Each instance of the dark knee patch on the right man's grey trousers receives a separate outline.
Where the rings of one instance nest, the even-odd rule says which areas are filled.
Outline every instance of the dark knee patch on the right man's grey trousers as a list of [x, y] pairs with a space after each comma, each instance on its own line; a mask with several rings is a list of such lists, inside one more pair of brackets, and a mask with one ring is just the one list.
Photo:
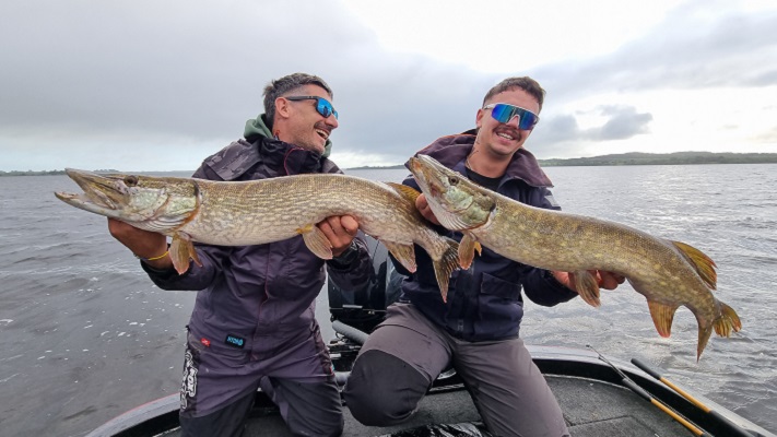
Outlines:
[[343, 398], [362, 424], [390, 426], [413, 414], [429, 386], [431, 381], [410, 364], [372, 350], [354, 363]]

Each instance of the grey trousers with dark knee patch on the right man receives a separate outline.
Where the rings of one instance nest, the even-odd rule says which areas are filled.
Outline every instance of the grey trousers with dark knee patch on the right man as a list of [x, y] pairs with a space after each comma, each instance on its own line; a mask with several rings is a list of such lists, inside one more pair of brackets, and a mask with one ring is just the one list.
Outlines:
[[467, 342], [411, 304], [395, 304], [362, 347], [343, 395], [365, 425], [410, 417], [450, 364], [488, 430], [501, 437], [568, 436], [561, 408], [520, 339]]

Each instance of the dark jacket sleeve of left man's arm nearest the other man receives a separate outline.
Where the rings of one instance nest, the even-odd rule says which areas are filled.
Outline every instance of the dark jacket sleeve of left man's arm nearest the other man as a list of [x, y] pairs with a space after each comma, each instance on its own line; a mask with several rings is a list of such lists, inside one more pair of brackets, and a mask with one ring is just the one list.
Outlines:
[[351, 247], [337, 258], [327, 261], [329, 280], [345, 291], [355, 292], [367, 286], [373, 273], [373, 260], [361, 231]]

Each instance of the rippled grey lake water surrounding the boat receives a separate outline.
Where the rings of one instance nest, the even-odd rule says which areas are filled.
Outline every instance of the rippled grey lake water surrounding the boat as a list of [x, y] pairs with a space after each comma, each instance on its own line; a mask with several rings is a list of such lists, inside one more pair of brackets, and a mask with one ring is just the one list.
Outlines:
[[[680, 308], [670, 339], [645, 298], [604, 292], [527, 304], [528, 343], [638, 357], [670, 380], [777, 432], [777, 165], [549, 167], [565, 211], [691, 244], [718, 264], [717, 297], [744, 324], [713, 336], [696, 362], [696, 320]], [[399, 181], [405, 170], [350, 174]], [[181, 174], [180, 176], [188, 176]], [[104, 217], [54, 191], [66, 176], [0, 177], [0, 435], [83, 436], [144, 402], [177, 392], [195, 293], [156, 288], [107, 232]], [[326, 339], [326, 293], [318, 314]]]

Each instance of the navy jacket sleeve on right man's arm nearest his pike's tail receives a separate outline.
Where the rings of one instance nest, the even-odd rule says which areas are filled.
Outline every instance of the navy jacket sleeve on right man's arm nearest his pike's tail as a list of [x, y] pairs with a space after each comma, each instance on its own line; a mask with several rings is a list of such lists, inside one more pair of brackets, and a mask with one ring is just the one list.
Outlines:
[[[561, 206], [556, 203], [551, 190], [544, 187], [539, 188], [533, 193], [529, 204], [546, 210], [561, 211]], [[521, 275], [523, 292], [534, 304], [552, 307], [578, 296], [577, 293], [556, 281], [549, 270], [529, 265], [525, 265], [525, 269], [526, 271]]]

